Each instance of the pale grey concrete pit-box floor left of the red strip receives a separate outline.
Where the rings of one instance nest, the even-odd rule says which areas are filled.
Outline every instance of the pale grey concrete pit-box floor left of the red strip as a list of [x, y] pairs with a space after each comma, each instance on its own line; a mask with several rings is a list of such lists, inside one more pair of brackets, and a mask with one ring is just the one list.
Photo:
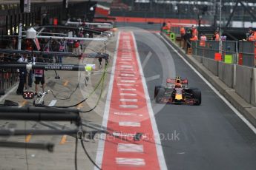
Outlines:
[[[87, 42], [85, 43], [88, 47], [85, 52], [105, 52], [104, 43], [102, 42]], [[113, 57], [116, 47], [116, 37], [112, 37], [107, 43], [108, 53]], [[48, 105], [51, 101], [56, 100], [55, 106], [70, 106], [74, 103], [82, 101], [96, 86], [97, 82], [102, 76], [105, 61], [102, 62], [102, 69], [99, 68], [99, 61], [94, 59], [86, 58], [84, 63], [96, 64], [96, 70], [86, 76], [89, 77], [88, 82], [85, 85], [85, 72], [73, 72], [73, 71], [57, 71], [60, 79], [55, 79], [54, 71], [46, 71], [45, 79], [47, 83], [46, 89], [51, 89], [57, 98], [54, 98], [50, 93], [45, 97], [45, 104]], [[64, 58], [63, 64], [82, 64], [77, 58]], [[111, 70], [112, 60], [110, 60]], [[96, 126], [102, 123], [102, 114], [105, 108], [105, 96], [108, 89], [109, 74], [106, 74], [104, 90], [102, 92], [102, 98], [99, 102], [99, 106], [96, 107], [92, 112], [83, 113], [82, 120], [84, 123]], [[79, 78], [81, 77], [81, 81]], [[76, 89], [77, 84], [80, 82], [79, 88], [73, 93], [70, 99], [60, 100], [59, 98], [68, 98], [70, 93]], [[30, 90], [34, 90], [33, 87]], [[88, 101], [77, 106], [79, 109], [86, 111], [93, 108], [97, 99], [99, 98], [100, 88], [96, 90], [94, 95]], [[6, 98], [7, 100], [15, 101], [20, 106], [32, 106], [33, 100], [24, 100], [21, 95], [16, 95], [16, 89], [10, 92]], [[3, 103], [4, 100], [1, 101]], [[96, 125], [94, 125], [96, 124]], [[33, 122], [33, 121], [14, 121], [14, 120], [0, 120], [0, 129], [73, 129], [75, 126], [70, 122]], [[88, 129], [84, 127], [84, 129]], [[100, 138], [100, 134], [96, 135], [94, 140], [88, 140], [85, 142], [85, 148], [88, 149], [89, 154], [93, 158], [96, 157], [97, 143]], [[16, 141], [24, 142], [27, 140], [28, 143], [54, 143], [54, 152], [50, 153], [42, 150], [34, 149], [11, 149], [0, 147], [0, 169], [75, 169], [74, 167], [74, 151], [75, 151], [75, 138], [67, 135], [27, 135], [27, 136], [10, 136], [0, 137], [2, 141]], [[27, 158], [26, 158], [27, 157]], [[93, 169], [93, 164], [86, 157], [85, 152], [82, 150], [81, 143], [78, 145], [78, 169]]]

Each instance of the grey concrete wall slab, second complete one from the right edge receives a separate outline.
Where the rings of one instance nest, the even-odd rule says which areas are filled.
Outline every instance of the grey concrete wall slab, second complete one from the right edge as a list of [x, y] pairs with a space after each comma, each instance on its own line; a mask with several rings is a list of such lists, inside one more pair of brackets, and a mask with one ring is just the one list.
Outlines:
[[230, 88], [234, 87], [234, 65], [219, 62], [218, 75], [221, 81], [223, 81]]

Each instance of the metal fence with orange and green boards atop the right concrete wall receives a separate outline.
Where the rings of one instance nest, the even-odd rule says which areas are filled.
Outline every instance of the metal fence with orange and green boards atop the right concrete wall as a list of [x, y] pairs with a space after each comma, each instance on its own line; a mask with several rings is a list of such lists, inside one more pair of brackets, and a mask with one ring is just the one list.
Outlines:
[[[175, 31], [178, 31], [178, 27], [171, 27], [171, 32], [175, 33]], [[179, 46], [187, 49], [186, 42], [183, 42], [184, 44], [181, 42]], [[191, 49], [192, 55], [223, 61], [226, 64], [239, 64], [247, 67], [256, 66], [256, 42], [191, 41]]]

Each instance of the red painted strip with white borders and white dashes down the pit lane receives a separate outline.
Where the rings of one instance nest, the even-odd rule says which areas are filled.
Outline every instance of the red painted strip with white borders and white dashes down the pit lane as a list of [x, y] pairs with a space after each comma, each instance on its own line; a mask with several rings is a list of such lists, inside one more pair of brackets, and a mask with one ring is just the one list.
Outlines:
[[[96, 163], [103, 170], [167, 169], [137, 44], [131, 32], [118, 35], [102, 126], [114, 129], [114, 136], [125, 138], [105, 135], [104, 140], [99, 140]], [[144, 134], [146, 140], [134, 141], [137, 133]]]

